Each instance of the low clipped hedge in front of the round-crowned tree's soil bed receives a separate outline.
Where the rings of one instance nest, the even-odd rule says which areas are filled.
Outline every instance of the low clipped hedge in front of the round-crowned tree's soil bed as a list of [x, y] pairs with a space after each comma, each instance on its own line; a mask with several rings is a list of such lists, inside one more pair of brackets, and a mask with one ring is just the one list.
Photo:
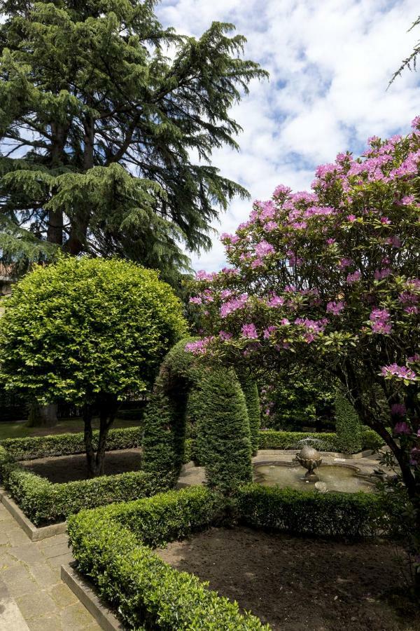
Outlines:
[[169, 487], [164, 478], [157, 480], [144, 471], [52, 484], [20, 467], [11, 468], [4, 483], [10, 496], [36, 526], [64, 521], [83, 508], [148, 497]]

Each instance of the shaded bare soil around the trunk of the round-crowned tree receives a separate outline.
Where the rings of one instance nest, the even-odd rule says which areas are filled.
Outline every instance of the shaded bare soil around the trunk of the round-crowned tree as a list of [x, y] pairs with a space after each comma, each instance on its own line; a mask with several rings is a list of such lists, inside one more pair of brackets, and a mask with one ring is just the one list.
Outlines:
[[[39, 458], [27, 460], [21, 464], [34, 473], [48, 478], [50, 482], [73, 482], [73, 480], [85, 480], [87, 477], [85, 454]], [[138, 471], [140, 465], [141, 449], [120, 449], [115, 452], [106, 452], [106, 475]]]

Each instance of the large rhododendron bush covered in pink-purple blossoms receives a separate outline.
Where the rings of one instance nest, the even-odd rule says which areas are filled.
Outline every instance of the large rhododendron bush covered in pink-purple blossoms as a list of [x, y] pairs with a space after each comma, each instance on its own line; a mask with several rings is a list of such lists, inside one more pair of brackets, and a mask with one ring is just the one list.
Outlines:
[[391, 447], [412, 498], [420, 484], [419, 172], [420, 117], [407, 137], [372, 137], [360, 158], [347, 152], [318, 167], [311, 192], [281, 185], [256, 201], [248, 221], [222, 236], [231, 266], [197, 273], [191, 301], [207, 337], [189, 347], [270, 368], [330, 370]]

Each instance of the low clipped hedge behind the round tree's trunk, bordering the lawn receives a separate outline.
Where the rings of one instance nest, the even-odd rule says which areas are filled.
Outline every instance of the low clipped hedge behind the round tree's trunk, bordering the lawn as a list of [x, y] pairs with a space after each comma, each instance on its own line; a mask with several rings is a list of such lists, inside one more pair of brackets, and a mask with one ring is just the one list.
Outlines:
[[[139, 427], [111, 429], [106, 440], [106, 450], [133, 449], [141, 446], [143, 430]], [[93, 432], [93, 446], [97, 449], [99, 431]], [[33, 460], [50, 456], [69, 456], [85, 452], [83, 432], [33, 436], [26, 438], [6, 438], [1, 446], [15, 460]]]

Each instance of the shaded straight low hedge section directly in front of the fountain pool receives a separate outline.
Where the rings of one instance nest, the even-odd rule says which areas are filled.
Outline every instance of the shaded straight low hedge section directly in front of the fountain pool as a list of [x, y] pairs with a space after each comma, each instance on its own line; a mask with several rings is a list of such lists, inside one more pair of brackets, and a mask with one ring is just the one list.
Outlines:
[[391, 528], [391, 501], [373, 493], [323, 494], [248, 484], [236, 498], [241, 522], [253, 528], [346, 539], [383, 536]]

